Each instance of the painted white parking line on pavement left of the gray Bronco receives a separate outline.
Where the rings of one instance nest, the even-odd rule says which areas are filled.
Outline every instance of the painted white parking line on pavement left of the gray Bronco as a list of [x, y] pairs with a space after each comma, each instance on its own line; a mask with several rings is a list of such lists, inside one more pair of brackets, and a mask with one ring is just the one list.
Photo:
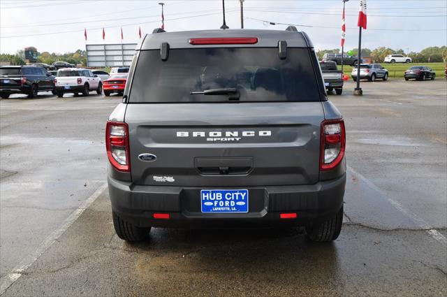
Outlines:
[[64, 232], [82, 215], [82, 212], [84, 212], [91, 203], [94, 203], [96, 198], [99, 197], [103, 193], [103, 191], [107, 189], [107, 182], [101, 185], [96, 191], [91, 194], [89, 198], [87, 198], [84, 203], [82, 203], [79, 208], [76, 208], [75, 211], [71, 213], [70, 216], [67, 217], [67, 219], [64, 221], [64, 223], [59, 226], [58, 229], [54, 230], [50, 236], [45, 238], [43, 242], [38, 246], [36, 251], [34, 253], [29, 254], [29, 256], [26, 256], [18, 266], [15, 266], [13, 270], [8, 273], [8, 275], [4, 276], [0, 280], [0, 295], [5, 293], [6, 289], [8, 289], [11, 284], [13, 284], [16, 280], [19, 279], [19, 277], [22, 276], [22, 272], [29, 268], [34, 262], [36, 262], [37, 259], [39, 259], [40, 256], [49, 248], [51, 245], [59, 238]]

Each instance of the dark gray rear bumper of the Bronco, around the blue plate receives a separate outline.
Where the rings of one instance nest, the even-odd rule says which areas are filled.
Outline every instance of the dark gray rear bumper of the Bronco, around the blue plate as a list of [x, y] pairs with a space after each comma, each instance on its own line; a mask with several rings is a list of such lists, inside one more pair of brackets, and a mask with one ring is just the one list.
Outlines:
[[[200, 212], [200, 190], [221, 187], [138, 186], [108, 178], [112, 210], [122, 219], [135, 226], [174, 228], [306, 226], [342, 208], [345, 184], [344, 174], [316, 184], [244, 187], [249, 189], [248, 213], [205, 214]], [[170, 219], [154, 219], [154, 212], [169, 213]], [[295, 212], [297, 218], [280, 219], [284, 212]]]

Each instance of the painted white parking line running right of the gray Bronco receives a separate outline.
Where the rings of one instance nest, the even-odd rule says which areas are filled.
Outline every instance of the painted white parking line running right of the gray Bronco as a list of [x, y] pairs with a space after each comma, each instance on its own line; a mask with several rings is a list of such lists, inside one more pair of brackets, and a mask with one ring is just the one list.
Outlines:
[[411, 219], [411, 221], [413, 221], [413, 223], [416, 224], [416, 226], [420, 227], [421, 229], [424, 229], [427, 233], [430, 234], [430, 236], [432, 236], [432, 238], [434, 238], [435, 240], [441, 242], [441, 244], [447, 246], [447, 238], [444, 235], [442, 235], [441, 233], [439, 233], [439, 231], [437, 231], [435, 229], [432, 229], [430, 224], [425, 222], [425, 220], [423, 218], [418, 217], [416, 214], [414, 214], [410, 210], [407, 210], [406, 208], [404, 208], [402, 206], [402, 204], [400, 204], [399, 202], [397, 202], [394, 199], [390, 198], [388, 196], [388, 194], [386, 194], [385, 191], [383, 191], [382, 189], [377, 187], [373, 182], [369, 181], [363, 175], [361, 175], [360, 173], [355, 171], [351, 166], [346, 166], [346, 167], [348, 168], [348, 171], [351, 171], [351, 173], [356, 175], [356, 177], [359, 180], [362, 180], [362, 182], [365, 182], [365, 184], [367, 184], [371, 189], [374, 189], [374, 191], [378, 191], [381, 194], [380, 196], [382, 198], [384, 198], [386, 201], [391, 203], [397, 210], [402, 212], [402, 214], [405, 217], [408, 217], [409, 219]]

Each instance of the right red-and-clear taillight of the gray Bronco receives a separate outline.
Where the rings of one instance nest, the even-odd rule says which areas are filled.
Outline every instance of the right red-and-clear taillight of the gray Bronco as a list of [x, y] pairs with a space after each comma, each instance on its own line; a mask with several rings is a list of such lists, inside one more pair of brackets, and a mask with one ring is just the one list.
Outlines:
[[320, 170], [335, 168], [344, 157], [346, 136], [343, 119], [321, 122]]

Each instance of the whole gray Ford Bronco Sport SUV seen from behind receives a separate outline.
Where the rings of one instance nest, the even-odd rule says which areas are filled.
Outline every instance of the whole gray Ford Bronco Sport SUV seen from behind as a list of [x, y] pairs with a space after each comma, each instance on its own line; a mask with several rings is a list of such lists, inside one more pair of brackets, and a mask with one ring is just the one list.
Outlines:
[[314, 45], [286, 31], [154, 30], [137, 46], [106, 126], [115, 231], [342, 228], [342, 115]]

